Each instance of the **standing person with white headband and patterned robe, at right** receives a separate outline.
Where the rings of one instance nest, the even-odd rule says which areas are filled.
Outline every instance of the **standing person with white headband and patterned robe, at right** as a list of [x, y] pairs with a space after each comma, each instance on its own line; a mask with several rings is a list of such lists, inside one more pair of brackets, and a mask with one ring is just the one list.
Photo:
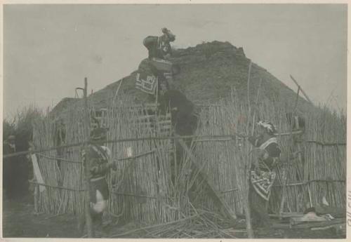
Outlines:
[[277, 165], [280, 149], [277, 144], [274, 125], [268, 121], [259, 121], [258, 136], [249, 137], [253, 149], [253, 163], [250, 171], [249, 203], [253, 217], [253, 227], [270, 227], [267, 202], [276, 177], [274, 167]]

